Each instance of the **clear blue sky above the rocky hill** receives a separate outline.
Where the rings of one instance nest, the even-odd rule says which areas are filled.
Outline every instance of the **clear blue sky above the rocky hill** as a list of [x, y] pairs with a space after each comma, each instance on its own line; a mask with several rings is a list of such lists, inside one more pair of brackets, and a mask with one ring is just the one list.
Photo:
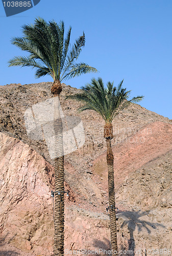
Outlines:
[[99, 70], [99, 74], [82, 75], [65, 81], [80, 88], [92, 77], [132, 90], [131, 96], [144, 95], [144, 108], [172, 119], [172, 1], [171, 0], [41, 0], [32, 9], [6, 17], [0, 5], [1, 78], [0, 84], [52, 81], [51, 77], [34, 78], [30, 68], [10, 67], [8, 60], [26, 53], [10, 44], [21, 36], [23, 24], [35, 17], [63, 20], [66, 31], [72, 27], [71, 42], [82, 32], [86, 44], [79, 61]]

